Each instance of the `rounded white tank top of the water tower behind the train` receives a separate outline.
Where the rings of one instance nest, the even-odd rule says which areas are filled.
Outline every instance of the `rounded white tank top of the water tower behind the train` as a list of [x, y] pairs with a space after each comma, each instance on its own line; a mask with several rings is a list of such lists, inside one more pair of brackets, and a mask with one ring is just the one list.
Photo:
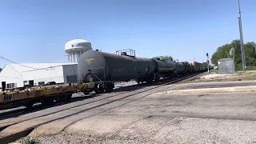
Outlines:
[[87, 51], [92, 50], [91, 43], [84, 39], [73, 39], [70, 42], [66, 42], [65, 51]]

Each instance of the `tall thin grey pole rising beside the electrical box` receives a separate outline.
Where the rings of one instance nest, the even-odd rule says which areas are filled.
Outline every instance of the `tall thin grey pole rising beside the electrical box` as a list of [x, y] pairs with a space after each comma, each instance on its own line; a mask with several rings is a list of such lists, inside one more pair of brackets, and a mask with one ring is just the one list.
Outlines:
[[242, 38], [242, 18], [241, 18], [241, 10], [240, 10], [240, 0], [238, 0], [238, 9], [239, 9], [238, 24], [239, 24], [239, 32], [240, 32], [242, 70], [245, 73], [246, 72], [246, 58], [245, 58], [245, 49], [244, 49], [243, 38]]

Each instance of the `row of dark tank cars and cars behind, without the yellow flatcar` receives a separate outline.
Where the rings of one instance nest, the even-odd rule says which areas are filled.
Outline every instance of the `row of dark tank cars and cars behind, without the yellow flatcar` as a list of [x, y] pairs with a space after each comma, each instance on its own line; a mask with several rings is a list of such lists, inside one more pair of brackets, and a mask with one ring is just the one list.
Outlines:
[[[130, 54], [127, 54], [130, 53]], [[120, 50], [116, 54], [98, 50], [86, 51], [78, 60], [78, 79], [95, 82], [96, 93], [111, 92], [114, 82], [128, 82], [132, 79], [138, 84], [158, 81], [160, 78], [174, 78], [208, 70], [207, 65], [198, 62], [162, 61], [153, 58], [137, 58], [134, 50]], [[93, 90], [87, 90], [89, 94]]]

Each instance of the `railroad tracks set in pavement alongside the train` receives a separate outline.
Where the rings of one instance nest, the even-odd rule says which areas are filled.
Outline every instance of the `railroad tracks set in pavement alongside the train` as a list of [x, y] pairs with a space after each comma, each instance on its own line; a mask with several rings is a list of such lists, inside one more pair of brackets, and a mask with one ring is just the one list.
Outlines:
[[[202, 73], [198, 73], [198, 74], [202, 74]], [[71, 106], [71, 107], [68, 107], [68, 108], [65, 108], [65, 109], [62, 109], [62, 110], [56, 110], [56, 111], [51, 112], [51, 113], [48, 113], [48, 114], [42, 114], [42, 115], [39, 115], [39, 116], [34, 117], [34, 118], [26, 118], [26, 119], [23, 119], [23, 120], [21, 120], [21, 121], [13, 122], [13, 123], [11, 123], [10, 125], [6, 125], [6, 126], [0, 127], [0, 130], [5, 130], [6, 128], [8, 129], [8, 127], [14, 126], [14, 125], [16, 125], [16, 124], [18, 124], [18, 123], [20, 123], [20, 122], [26, 122], [26, 121], [29, 121], [29, 120], [32, 120], [32, 119], [35, 119], [35, 118], [42, 118], [42, 117], [48, 116], [48, 115], [50, 115], [50, 114], [57, 114], [57, 113], [59, 113], [59, 112], [65, 111], [65, 110], [70, 110], [70, 109], [78, 108], [79, 106], [85, 106], [85, 105], [88, 105], [88, 104], [91, 104], [91, 103], [94, 103], [94, 102], [99, 102], [99, 101], [102, 101], [102, 100], [105, 100], [105, 99], [108, 99], [108, 98], [117, 97], [117, 98], [115, 98], [114, 100], [111, 100], [111, 101], [109, 101], [109, 102], [103, 102], [103, 103], [101, 103], [101, 104], [98, 104], [98, 105], [95, 105], [95, 106], [91, 106], [91, 107], [86, 108], [86, 109], [83, 109], [83, 110], [78, 110], [77, 112], [74, 112], [74, 113], [72, 113], [72, 114], [66, 114], [66, 115], [61, 116], [61, 117], [58, 117], [58, 118], [52, 118], [52, 119], [50, 119], [50, 120], [47, 120], [46, 122], [38, 122], [38, 123], [34, 124], [34, 126], [29, 126], [29, 127], [26, 128], [25, 130], [20, 130], [20, 131], [18, 131], [18, 132], [14, 132], [14, 134], [10, 134], [10, 135], [8, 135], [8, 136], [5, 136], [5, 137], [0, 138], [0, 143], [1, 143], [1, 144], [4, 144], [4, 143], [9, 143], [9, 142], [14, 142], [14, 141], [18, 140], [19, 138], [26, 137], [28, 134], [30, 134], [31, 131], [33, 131], [34, 129], [38, 128], [39, 126], [46, 125], [46, 124], [48, 124], [48, 123], [50, 123], [50, 122], [56, 122], [56, 121], [62, 120], [62, 119], [64, 119], [64, 118], [69, 118], [69, 117], [72, 117], [72, 116], [74, 116], [74, 115], [77, 115], [77, 114], [81, 114], [81, 113], [83, 113], [83, 112], [86, 112], [86, 111], [88, 111], [88, 110], [93, 110], [93, 109], [95, 109], [95, 108], [108, 105], [108, 104], [110, 104], [110, 103], [112, 103], [112, 102], [117, 102], [118, 100], [122, 100], [122, 99], [124, 99], [124, 98], [132, 97], [132, 96], [134, 96], [134, 95], [136, 95], [136, 94], [142, 94], [142, 93], [145, 93], [145, 92], [150, 92], [150, 90], [156, 90], [156, 89], [159, 88], [160, 86], [170, 85], [170, 84], [172, 84], [172, 83], [182, 81], [182, 80], [184, 80], [184, 79], [186, 79], [186, 78], [192, 78], [192, 77], [194, 77], [194, 76], [196, 76], [196, 75], [198, 75], [198, 74], [193, 74], [193, 75], [189, 75], [189, 76], [184, 76], [184, 77], [181, 77], [181, 78], [175, 78], [175, 79], [170, 80], [170, 81], [164, 81], [164, 82], [162, 82], [162, 84], [153, 85], [153, 86], [151, 85], [151, 86], [145, 87], [145, 88], [143, 88], [143, 89], [138, 89], [138, 90], [135, 90], [135, 91], [132, 91], [132, 92], [129, 92], [129, 93], [127, 93], [127, 91], [126, 91], [126, 92], [122, 92], [122, 93], [119, 93], [119, 94], [114, 94], [114, 93], [113, 93], [113, 95], [110, 95], [110, 96], [108, 96], [108, 95], [103, 95], [103, 96], [106, 96], [106, 97], [105, 97], [105, 98], [99, 98], [99, 99], [94, 100], [94, 101], [91, 101], [91, 102], [82, 103], [82, 104], [79, 104], [79, 105], [77, 105], [77, 106]], [[138, 86], [138, 85], [135, 85], [135, 86]], [[142, 86], [145, 86], [145, 85], [142, 85]], [[139, 87], [141, 88], [142, 86], [139, 86]], [[129, 89], [129, 88], [133, 88], [133, 86], [128, 86], [128, 89]], [[123, 89], [127, 89], [127, 87], [123, 87]], [[162, 91], [162, 90], [164, 90], [164, 89], [165, 89], [165, 88], [162, 88], [162, 89], [160, 89], [160, 90], [154, 91], [154, 93], [156, 93], [156, 92], [158, 92], [158, 91]], [[150, 95], [150, 94], [145, 94], [145, 95], [143, 95], [143, 96], [140, 97], [140, 98], [144, 98], [144, 97], [146, 97], [146, 96], [148, 96], [148, 95]], [[137, 99], [138, 99], [138, 98], [136, 98], [136, 99], [134, 99], [134, 100], [137, 100]], [[132, 100], [132, 101], [134, 101], [134, 100]], [[130, 102], [132, 102], [132, 101], [130, 101]], [[128, 103], [128, 102], [126, 102], [126, 103]], [[125, 103], [125, 104], [126, 104], [126, 103]], [[116, 108], [116, 107], [114, 107], [114, 108]], [[110, 108], [110, 109], [108, 109], [108, 110], [111, 110], [111, 109], [114, 109], [114, 108]], [[106, 110], [104, 110], [104, 111], [102, 111], [102, 112], [100, 112], [100, 113], [98, 113], [98, 114], [101, 114], [101, 113], [103, 113], [103, 112], [105, 112], [105, 111], [106, 111]], [[94, 116], [94, 115], [97, 115], [97, 114], [90, 115], [90, 117], [92, 117], [92, 116]], [[90, 118], [90, 117], [85, 117], [85, 118]], [[68, 127], [68, 126], [73, 125], [75, 122], [81, 121], [82, 119], [84, 119], [84, 118], [79, 118], [79, 119], [77, 119], [76, 121], [71, 122], [69, 125], [65, 126], [63, 130], [65, 130], [66, 127]]]

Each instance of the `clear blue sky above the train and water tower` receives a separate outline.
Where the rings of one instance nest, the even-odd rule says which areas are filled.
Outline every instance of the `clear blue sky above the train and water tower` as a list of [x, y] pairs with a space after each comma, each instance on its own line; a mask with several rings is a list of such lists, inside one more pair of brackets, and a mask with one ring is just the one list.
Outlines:
[[[244, 41], [255, 41], [256, 1], [241, 6]], [[205, 62], [239, 38], [237, 0], [2, 0], [0, 19], [0, 55], [14, 62], [67, 62], [64, 45], [74, 38], [110, 53]]]

